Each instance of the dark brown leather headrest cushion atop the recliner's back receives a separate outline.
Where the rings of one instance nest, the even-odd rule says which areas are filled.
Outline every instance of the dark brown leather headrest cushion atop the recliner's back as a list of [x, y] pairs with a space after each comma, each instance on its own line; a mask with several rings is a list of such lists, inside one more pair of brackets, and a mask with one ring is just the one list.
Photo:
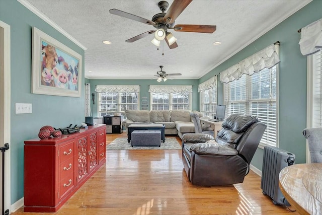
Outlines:
[[246, 131], [255, 122], [259, 122], [255, 116], [236, 113], [228, 116], [222, 123], [222, 127], [239, 133]]

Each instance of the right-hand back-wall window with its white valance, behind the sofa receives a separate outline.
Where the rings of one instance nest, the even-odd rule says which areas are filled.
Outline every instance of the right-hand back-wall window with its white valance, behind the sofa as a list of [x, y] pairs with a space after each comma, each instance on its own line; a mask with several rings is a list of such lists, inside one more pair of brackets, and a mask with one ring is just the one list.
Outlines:
[[191, 111], [192, 86], [150, 86], [151, 110]]

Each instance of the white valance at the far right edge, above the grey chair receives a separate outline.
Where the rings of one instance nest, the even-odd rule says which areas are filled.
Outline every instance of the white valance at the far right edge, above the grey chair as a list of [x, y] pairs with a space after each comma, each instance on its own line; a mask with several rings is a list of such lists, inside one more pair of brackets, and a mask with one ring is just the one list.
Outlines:
[[301, 28], [301, 39], [298, 44], [305, 56], [322, 50], [322, 19]]

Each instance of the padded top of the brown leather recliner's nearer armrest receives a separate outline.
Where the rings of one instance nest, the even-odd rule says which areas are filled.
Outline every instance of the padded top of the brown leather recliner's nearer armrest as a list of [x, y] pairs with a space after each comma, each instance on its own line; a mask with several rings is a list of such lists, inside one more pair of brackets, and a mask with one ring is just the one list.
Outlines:
[[237, 155], [238, 152], [231, 148], [214, 143], [202, 142], [200, 144], [193, 144], [190, 146], [190, 152], [195, 152], [198, 155]]

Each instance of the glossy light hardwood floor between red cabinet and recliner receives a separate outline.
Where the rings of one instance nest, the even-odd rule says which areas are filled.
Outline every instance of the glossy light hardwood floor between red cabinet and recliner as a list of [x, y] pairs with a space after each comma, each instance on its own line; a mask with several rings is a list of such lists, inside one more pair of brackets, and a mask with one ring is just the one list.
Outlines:
[[[126, 133], [107, 134], [107, 144], [116, 137]], [[106, 165], [56, 213], [11, 214], [298, 214], [263, 195], [252, 171], [240, 184], [191, 185], [181, 158], [181, 150], [109, 150]]]

